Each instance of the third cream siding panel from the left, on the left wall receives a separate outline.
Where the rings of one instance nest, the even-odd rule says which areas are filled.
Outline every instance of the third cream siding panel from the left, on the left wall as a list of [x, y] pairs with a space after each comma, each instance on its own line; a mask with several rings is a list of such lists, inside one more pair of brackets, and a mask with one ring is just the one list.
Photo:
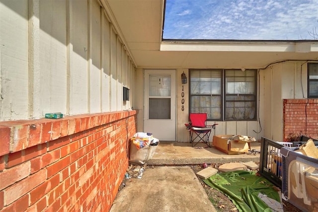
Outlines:
[[88, 113], [88, 6], [70, 0], [69, 114]]

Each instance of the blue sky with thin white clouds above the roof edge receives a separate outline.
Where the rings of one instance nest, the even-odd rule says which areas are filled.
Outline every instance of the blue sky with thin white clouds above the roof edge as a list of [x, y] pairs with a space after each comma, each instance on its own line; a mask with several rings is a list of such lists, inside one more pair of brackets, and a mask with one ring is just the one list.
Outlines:
[[308, 31], [318, 32], [318, 0], [166, 0], [165, 8], [163, 39], [314, 40]]

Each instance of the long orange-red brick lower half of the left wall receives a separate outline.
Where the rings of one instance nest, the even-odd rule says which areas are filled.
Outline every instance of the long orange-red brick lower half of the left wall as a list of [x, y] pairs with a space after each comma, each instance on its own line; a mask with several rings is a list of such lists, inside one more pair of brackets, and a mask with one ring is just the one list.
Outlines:
[[109, 211], [136, 128], [136, 111], [0, 122], [0, 211]]

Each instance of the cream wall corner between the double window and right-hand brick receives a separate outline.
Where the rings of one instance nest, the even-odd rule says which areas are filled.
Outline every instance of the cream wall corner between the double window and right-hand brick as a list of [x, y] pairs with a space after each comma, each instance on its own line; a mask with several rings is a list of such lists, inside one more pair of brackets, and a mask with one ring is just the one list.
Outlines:
[[286, 62], [261, 70], [263, 135], [283, 141], [283, 99], [307, 98], [307, 63]]

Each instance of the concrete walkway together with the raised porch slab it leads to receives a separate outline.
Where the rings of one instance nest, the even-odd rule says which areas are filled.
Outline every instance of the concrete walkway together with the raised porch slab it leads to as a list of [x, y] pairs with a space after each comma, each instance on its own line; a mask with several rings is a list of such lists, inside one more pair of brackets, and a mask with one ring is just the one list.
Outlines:
[[[215, 212], [191, 165], [227, 162], [259, 162], [256, 155], [228, 155], [214, 147], [194, 148], [186, 142], [161, 141], [141, 179], [125, 181], [111, 212]], [[251, 149], [260, 149], [253, 143]], [[154, 166], [152, 166], [154, 165]], [[152, 168], [153, 167], [153, 168]]]

